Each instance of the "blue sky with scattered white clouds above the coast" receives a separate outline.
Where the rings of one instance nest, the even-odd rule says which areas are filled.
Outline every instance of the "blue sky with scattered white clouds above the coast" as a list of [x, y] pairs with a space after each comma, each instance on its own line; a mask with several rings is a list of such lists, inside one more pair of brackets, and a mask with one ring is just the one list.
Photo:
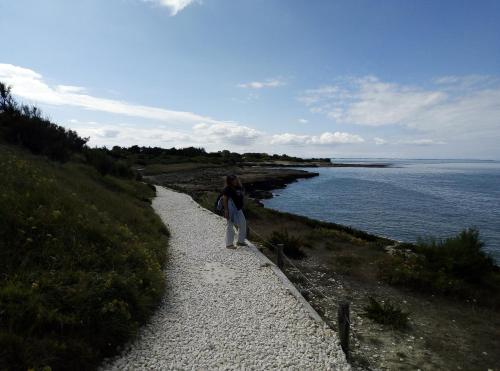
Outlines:
[[0, 0], [0, 81], [91, 146], [500, 159], [497, 0]]

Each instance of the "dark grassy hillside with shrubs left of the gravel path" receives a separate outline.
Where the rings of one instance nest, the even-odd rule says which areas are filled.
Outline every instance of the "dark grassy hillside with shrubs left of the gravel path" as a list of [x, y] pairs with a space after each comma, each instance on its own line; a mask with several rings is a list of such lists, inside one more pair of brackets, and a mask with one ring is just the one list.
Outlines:
[[5, 98], [0, 369], [94, 369], [162, 296], [168, 231], [151, 208], [154, 188]]

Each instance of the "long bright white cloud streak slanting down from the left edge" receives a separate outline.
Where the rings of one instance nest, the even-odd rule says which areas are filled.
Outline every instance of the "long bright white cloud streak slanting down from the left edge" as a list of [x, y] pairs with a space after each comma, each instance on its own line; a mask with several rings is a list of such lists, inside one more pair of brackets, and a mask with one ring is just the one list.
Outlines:
[[193, 125], [200, 122], [212, 124], [223, 122], [192, 112], [99, 98], [85, 93], [86, 90], [78, 86], [56, 85], [51, 87], [44, 81], [41, 74], [11, 64], [0, 63], [0, 81], [12, 85], [12, 91], [15, 95], [40, 103], [73, 106], [92, 111], [164, 121], [170, 124]]

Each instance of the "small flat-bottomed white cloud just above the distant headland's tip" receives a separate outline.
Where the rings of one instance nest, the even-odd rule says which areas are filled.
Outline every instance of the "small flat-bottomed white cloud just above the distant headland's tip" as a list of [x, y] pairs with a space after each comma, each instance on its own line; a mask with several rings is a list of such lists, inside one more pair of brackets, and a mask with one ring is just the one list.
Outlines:
[[357, 134], [342, 132], [325, 132], [320, 135], [299, 135], [299, 134], [276, 134], [271, 138], [271, 144], [285, 145], [336, 145], [336, 144], [356, 144], [365, 140]]

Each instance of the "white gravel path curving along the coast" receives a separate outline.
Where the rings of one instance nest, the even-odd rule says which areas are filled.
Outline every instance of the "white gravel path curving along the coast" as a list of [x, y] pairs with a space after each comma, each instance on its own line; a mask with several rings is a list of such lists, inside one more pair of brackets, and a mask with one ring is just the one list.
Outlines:
[[224, 246], [225, 221], [157, 187], [170, 229], [167, 294], [136, 342], [105, 370], [349, 370], [336, 334], [249, 248]]

